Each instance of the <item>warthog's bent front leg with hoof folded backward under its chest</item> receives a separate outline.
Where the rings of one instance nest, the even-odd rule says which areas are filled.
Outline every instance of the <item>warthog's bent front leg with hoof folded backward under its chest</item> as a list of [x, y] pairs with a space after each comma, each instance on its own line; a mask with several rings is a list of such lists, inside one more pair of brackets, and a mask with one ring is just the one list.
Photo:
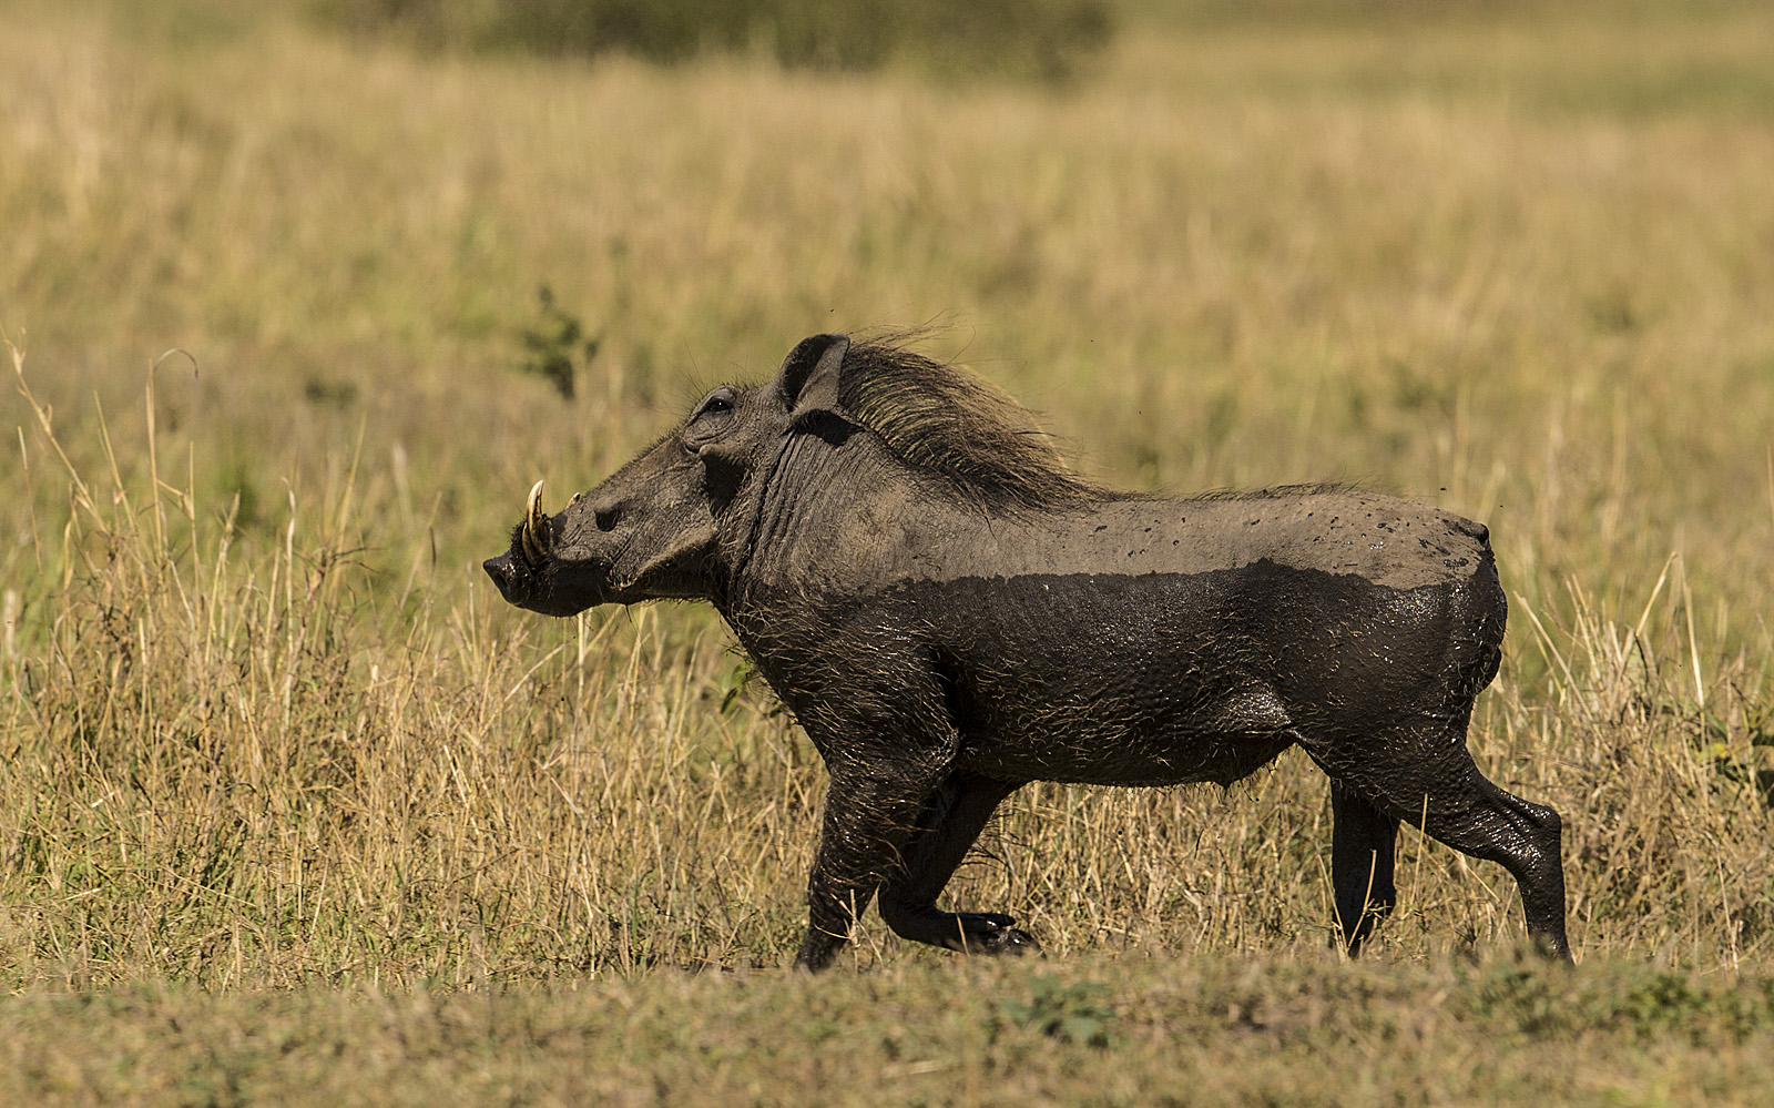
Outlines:
[[946, 913], [937, 907], [949, 877], [979, 838], [999, 801], [1018, 781], [993, 781], [956, 772], [924, 808], [919, 829], [903, 854], [903, 868], [880, 891], [882, 918], [903, 939], [969, 954], [1024, 954], [1036, 950], [1015, 920], [999, 913]]

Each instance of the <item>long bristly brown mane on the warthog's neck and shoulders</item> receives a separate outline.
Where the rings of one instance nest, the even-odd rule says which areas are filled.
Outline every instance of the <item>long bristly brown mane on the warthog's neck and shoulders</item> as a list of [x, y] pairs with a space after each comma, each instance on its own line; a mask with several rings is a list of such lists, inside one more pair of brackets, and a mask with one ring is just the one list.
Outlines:
[[986, 508], [1063, 508], [1128, 494], [1071, 472], [1029, 408], [981, 378], [908, 350], [912, 336], [855, 343], [837, 403], [907, 465]]

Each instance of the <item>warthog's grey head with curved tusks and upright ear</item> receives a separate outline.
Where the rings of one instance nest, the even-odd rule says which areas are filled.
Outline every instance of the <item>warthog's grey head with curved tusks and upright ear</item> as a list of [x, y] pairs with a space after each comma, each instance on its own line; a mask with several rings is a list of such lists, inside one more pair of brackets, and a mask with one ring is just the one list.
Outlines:
[[660, 598], [718, 600], [731, 543], [743, 542], [747, 497], [802, 421], [837, 412], [837, 375], [850, 339], [812, 336], [789, 352], [775, 380], [720, 385], [669, 435], [575, 495], [543, 511], [530, 488], [511, 549], [484, 563], [506, 600], [548, 616], [598, 604]]

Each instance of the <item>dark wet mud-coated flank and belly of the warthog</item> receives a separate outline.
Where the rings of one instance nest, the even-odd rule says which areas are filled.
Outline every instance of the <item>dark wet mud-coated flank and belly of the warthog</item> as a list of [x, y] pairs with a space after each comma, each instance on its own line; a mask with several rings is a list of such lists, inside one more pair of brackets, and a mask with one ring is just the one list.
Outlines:
[[894, 609], [883, 623], [930, 627], [962, 765], [1169, 785], [1229, 783], [1291, 746], [1299, 726], [1359, 733], [1481, 684], [1495, 659], [1465, 623], [1472, 591], [1265, 561], [908, 582], [882, 604]]

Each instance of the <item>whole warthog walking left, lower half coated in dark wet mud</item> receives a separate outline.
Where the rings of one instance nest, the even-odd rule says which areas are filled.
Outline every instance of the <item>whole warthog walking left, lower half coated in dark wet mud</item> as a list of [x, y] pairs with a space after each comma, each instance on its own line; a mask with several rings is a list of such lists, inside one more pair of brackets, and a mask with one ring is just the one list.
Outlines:
[[1027, 781], [1231, 783], [1290, 746], [1330, 778], [1350, 952], [1396, 900], [1409, 820], [1510, 870], [1527, 932], [1570, 957], [1559, 817], [1465, 748], [1506, 604], [1485, 527], [1455, 515], [1336, 488], [1096, 488], [970, 376], [814, 336], [559, 515], [532, 499], [486, 572], [555, 616], [720, 611], [830, 772], [811, 970], [875, 898], [907, 939], [1032, 948], [1009, 916], [937, 907]]

